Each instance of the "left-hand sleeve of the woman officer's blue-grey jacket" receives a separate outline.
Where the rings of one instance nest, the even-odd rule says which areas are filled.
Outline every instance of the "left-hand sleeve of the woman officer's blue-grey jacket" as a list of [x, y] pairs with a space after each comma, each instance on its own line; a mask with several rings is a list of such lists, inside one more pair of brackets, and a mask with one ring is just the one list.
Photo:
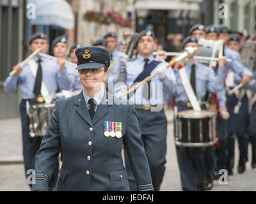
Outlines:
[[32, 185], [32, 191], [49, 190], [49, 181], [60, 154], [60, 131], [58, 124], [58, 101], [52, 112], [51, 120], [42, 140], [40, 149], [36, 152], [35, 172], [36, 180]]

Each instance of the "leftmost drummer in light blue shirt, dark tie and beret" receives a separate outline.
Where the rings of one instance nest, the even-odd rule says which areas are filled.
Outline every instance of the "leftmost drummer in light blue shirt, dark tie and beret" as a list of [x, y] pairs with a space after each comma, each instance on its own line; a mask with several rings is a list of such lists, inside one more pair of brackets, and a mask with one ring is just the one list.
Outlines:
[[[40, 52], [47, 52], [49, 49], [49, 43], [47, 36], [44, 33], [36, 33], [31, 36], [29, 40], [29, 48], [31, 52], [41, 48]], [[33, 66], [35, 65], [35, 66]], [[33, 72], [37, 68], [37, 71]], [[6, 78], [4, 82], [4, 91], [12, 93], [17, 90], [18, 85], [21, 87], [20, 113], [22, 122], [22, 145], [23, 145], [23, 157], [25, 165], [25, 173], [29, 169], [34, 169], [35, 166], [35, 154], [40, 147], [42, 137], [36, 136], [35, 138], [29, 137], [29, 119], [27, 115], [26, 101], [30, 105], [43, 102], [42, 99], [42, 82], [44, 82], [47, 90], [47, 96], [54, 94], [59, 86], [62, 89], [70, 88], [70, 77], [67, 70], [63, 67], [57, 66], [56, 61], [41, 57], [39, 54], [35, 55], [31, 61], [20, 66], [17, 64], [13, 67], [16, 72]], [[36, 75], [36, 76], [35, 76]], [[26, 177], [29, 175], [26, 174]], [[54, 186], [54, 182], [52, 182]], [[53, 187], [52, 186], [52, 187]]]

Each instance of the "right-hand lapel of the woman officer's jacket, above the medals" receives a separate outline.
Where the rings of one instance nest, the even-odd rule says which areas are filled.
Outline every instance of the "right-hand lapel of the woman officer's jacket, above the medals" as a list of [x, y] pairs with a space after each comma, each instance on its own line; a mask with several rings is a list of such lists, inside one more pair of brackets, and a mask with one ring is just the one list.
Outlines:
[[102, 101], [98, 106], [95, 112], [95, 115], [93, 116], [93, 119], [92, 119], [93, 125], [96, 122], [98, 122], [100, 119], [102, 119], [102, 117], [104, 117], [104, 115], [106, 115], [109, 112], [109, 106], [111, 106], [109, 105], [109, 93], [105, 91]]

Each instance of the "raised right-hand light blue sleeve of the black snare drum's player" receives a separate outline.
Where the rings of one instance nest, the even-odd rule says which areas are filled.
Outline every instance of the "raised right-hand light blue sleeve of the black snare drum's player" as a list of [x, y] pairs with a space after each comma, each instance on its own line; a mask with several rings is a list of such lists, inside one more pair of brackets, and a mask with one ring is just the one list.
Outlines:
[[[209, 69], [209, 68], [207, 68]], [[218, 68], [217, 75], [214, 74], [214, 71], [209, 69], [209, 77], [208, 77], [208, 83], [207, 83], [207, 90], [210, 92], [217, 92], [221, 89], [224, 89], [224, 80], [225, 80], [225, 67], [220, 66]]]

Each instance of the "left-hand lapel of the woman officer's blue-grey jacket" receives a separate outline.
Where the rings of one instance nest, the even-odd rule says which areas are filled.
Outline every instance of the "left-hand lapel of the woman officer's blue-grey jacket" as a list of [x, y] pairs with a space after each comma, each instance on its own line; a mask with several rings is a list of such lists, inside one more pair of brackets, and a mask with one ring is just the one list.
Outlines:
[[76, 111], [83, 117], [83, 119], [92, 126], [92, 120], [90, 118], [86, 103], [84, 101], [83, 91], [80, 92], [80, 94], [77, 95], [76, 101], [75, 101]]

